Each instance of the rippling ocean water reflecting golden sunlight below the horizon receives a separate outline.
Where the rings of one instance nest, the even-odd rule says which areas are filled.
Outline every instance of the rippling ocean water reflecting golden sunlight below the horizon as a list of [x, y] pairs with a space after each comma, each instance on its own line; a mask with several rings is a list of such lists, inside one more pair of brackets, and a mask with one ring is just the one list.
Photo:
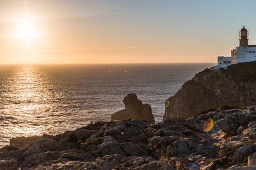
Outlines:
[[84, 64], [0, 66], [0, 147], [10, 138], [58, 134], [109, 121], [136, 93], [157, 122], [164, 101], [214, 64]]

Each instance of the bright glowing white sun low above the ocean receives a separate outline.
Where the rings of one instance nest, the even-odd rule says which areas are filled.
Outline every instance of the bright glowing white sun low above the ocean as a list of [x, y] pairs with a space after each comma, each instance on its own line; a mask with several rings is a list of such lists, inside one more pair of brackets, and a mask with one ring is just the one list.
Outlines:
[[31, 23], [29, 20], [24, 20], [19, 22], [17, 37], [24, 39], [38, 38], [40, 37], [40, 33], [36, 32], [35, 25]]

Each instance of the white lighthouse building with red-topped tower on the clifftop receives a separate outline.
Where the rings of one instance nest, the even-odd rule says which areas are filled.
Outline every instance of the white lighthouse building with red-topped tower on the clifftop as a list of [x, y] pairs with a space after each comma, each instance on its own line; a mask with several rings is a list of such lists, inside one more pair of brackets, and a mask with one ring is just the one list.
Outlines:
[[248, 31], [242, 28], [239, 32], [239, 46], [231, 50], [230, 57], [219, 56], [218, 65], [212, 69], [220, 69], [239, 62], [250, 62], [256, 60], [256, 45], [248, 45]]

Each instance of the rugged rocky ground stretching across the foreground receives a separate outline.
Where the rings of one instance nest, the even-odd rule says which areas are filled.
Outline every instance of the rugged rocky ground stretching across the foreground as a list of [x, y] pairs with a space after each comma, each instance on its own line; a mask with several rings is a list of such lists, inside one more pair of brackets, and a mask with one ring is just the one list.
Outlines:
[[0, 149], [0, 169], [256, 169], [255, 143], [251, 106], [157, 124], [97, 122], [56, 136], [11, 139]]

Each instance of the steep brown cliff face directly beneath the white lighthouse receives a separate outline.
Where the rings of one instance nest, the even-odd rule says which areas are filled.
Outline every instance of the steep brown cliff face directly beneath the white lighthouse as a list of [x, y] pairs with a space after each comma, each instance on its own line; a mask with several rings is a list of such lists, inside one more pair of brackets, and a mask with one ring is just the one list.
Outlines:
[[177, 94], [166, 100], [163, 120], [255, 104], [256, 62], [244, 62], [227, 69], [205, 69], [196, 74], [182, 85]]

